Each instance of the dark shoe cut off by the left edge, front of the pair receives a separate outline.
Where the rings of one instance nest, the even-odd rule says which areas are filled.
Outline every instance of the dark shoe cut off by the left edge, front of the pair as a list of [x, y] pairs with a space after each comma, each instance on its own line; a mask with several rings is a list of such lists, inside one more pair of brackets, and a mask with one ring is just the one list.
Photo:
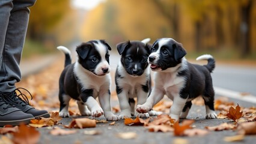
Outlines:
[[0, 126], [29, 124], [31, 119], [34, 119], [33, 115], [5, 101], [0, 92]]

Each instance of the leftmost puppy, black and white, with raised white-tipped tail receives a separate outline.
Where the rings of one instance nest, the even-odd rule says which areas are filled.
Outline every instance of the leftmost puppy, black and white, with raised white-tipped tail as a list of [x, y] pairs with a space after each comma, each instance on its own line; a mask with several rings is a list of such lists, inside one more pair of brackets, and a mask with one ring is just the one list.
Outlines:
[[[104, 40], [91, 40], [76, 47], [78, 59], [71, 64], [70, 50], [59, 46], [66, 55], [65, 68], [59, 77], [59, 116], [69, 117], [69, 101], [77, 100], [83, 116], [105, 115], [108, 121], [117, 121], [111, 112], [109, 52], [111, 47]], [[99, 103], [96, 99], [99, 97]]]

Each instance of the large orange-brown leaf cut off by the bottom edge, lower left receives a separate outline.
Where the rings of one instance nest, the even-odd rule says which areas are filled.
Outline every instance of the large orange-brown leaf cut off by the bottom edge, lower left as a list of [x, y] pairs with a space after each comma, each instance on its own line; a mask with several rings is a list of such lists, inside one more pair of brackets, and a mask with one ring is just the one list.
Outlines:
[[40, 138], [40, 133], [35, 130], [34, 127], [27, 125], [20, 125], [19, 131], [13, 133], [13, 142], [19, 144], [34, 144], [37, 143]]

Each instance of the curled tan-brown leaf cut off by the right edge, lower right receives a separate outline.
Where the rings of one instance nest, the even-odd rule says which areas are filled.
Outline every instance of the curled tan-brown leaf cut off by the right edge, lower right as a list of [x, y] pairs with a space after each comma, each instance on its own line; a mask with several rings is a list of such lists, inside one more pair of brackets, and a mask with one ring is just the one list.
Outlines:
[[256, 121], [244, 122], [237, 126], [238, 134], [256, 134]]

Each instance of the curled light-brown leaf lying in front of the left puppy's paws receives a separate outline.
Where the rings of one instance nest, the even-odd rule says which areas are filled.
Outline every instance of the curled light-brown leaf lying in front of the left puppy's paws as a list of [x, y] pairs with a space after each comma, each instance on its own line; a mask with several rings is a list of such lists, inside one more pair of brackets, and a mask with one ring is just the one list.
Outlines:
[[77, 118], [70, 122], [68, 128], [91, 128], [96, 127], [95, 119]]

